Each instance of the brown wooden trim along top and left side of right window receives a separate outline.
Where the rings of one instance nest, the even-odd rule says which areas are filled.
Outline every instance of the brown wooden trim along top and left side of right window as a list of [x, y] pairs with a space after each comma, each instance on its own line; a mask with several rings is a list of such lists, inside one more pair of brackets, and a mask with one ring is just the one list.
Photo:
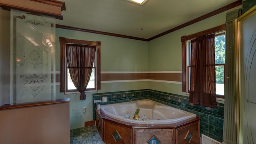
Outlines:
[[222, 24], [220, 26], [216, 26], [214, 28], [210, 28], [208, 30], [204, 30], [195, 34], [190, 34], [188, 36], [182, 36], [180, 41], [182, 42], [182, 92], [186, 92], [186, 41], [192, 40], [194, 38], [198, 38], [199, 36], [213, 34], [216, 32], [221, 32], [226, 30], [226, 24]]

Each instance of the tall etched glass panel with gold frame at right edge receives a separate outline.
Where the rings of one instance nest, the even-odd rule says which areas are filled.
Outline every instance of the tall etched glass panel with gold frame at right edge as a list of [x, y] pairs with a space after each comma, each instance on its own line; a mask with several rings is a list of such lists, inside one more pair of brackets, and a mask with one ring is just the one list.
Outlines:
[[[256, 9], [254, 9], [255, 11]], [[240, 69], [239, 92], [240, 92], [240, 120], [242, 129], [240, 137], [244, 144], [256, 142], [256, 14], [244, 17], [240, 23], [240, 48], [238, 68]]]

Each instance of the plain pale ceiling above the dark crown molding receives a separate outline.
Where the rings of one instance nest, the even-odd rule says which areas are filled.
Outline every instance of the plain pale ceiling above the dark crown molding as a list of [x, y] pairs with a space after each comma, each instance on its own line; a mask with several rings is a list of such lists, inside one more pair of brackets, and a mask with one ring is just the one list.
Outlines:
[[66, 10], [56, 24], [148, 39], [237, 0], [148, 0], [142, 7], [127, 0], [61, 1]]

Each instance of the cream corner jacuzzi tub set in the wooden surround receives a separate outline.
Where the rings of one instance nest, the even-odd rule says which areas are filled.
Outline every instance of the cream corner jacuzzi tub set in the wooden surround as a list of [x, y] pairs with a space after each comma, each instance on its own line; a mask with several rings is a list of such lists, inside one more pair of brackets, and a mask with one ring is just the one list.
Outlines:
[[[133, 116], [137, 108], [140, 109], [138, 113], [140, 118], [134, 120]], [[136, 124], [174, 124], [196, 117], [196, 114], [149, 99], [102, 105], [100, 109], [110, 118]], [[126, 118], [126, 114], [129, 114], [130, 118]], [[142, 120], [142, 116], [144, 115], [146, 116], [146, 120]]]

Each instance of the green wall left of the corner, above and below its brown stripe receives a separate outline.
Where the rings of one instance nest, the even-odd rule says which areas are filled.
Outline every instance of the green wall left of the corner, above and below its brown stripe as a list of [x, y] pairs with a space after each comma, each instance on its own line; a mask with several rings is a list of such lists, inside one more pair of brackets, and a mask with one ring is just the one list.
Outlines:
[[[59, 37], [78, 40], [101, 41], [101, 71], [148, 71], [148, 42], [118, 38], [87, 32], [78, 32], [56, 28], [56, 71], [60, 71]], [[113, 92], [147, 89], [148, 82], [102, 83], [99, 92]], [[70, 129], [84, 127], [84, 122], [92, 120], [92, 94], [86, 93], [86, 100], [80, 100], [80, 94], [60, 93], [56, 86], [56, 99], [70, 98]], [[82, 108], [86, 107], [84, 114]]]

